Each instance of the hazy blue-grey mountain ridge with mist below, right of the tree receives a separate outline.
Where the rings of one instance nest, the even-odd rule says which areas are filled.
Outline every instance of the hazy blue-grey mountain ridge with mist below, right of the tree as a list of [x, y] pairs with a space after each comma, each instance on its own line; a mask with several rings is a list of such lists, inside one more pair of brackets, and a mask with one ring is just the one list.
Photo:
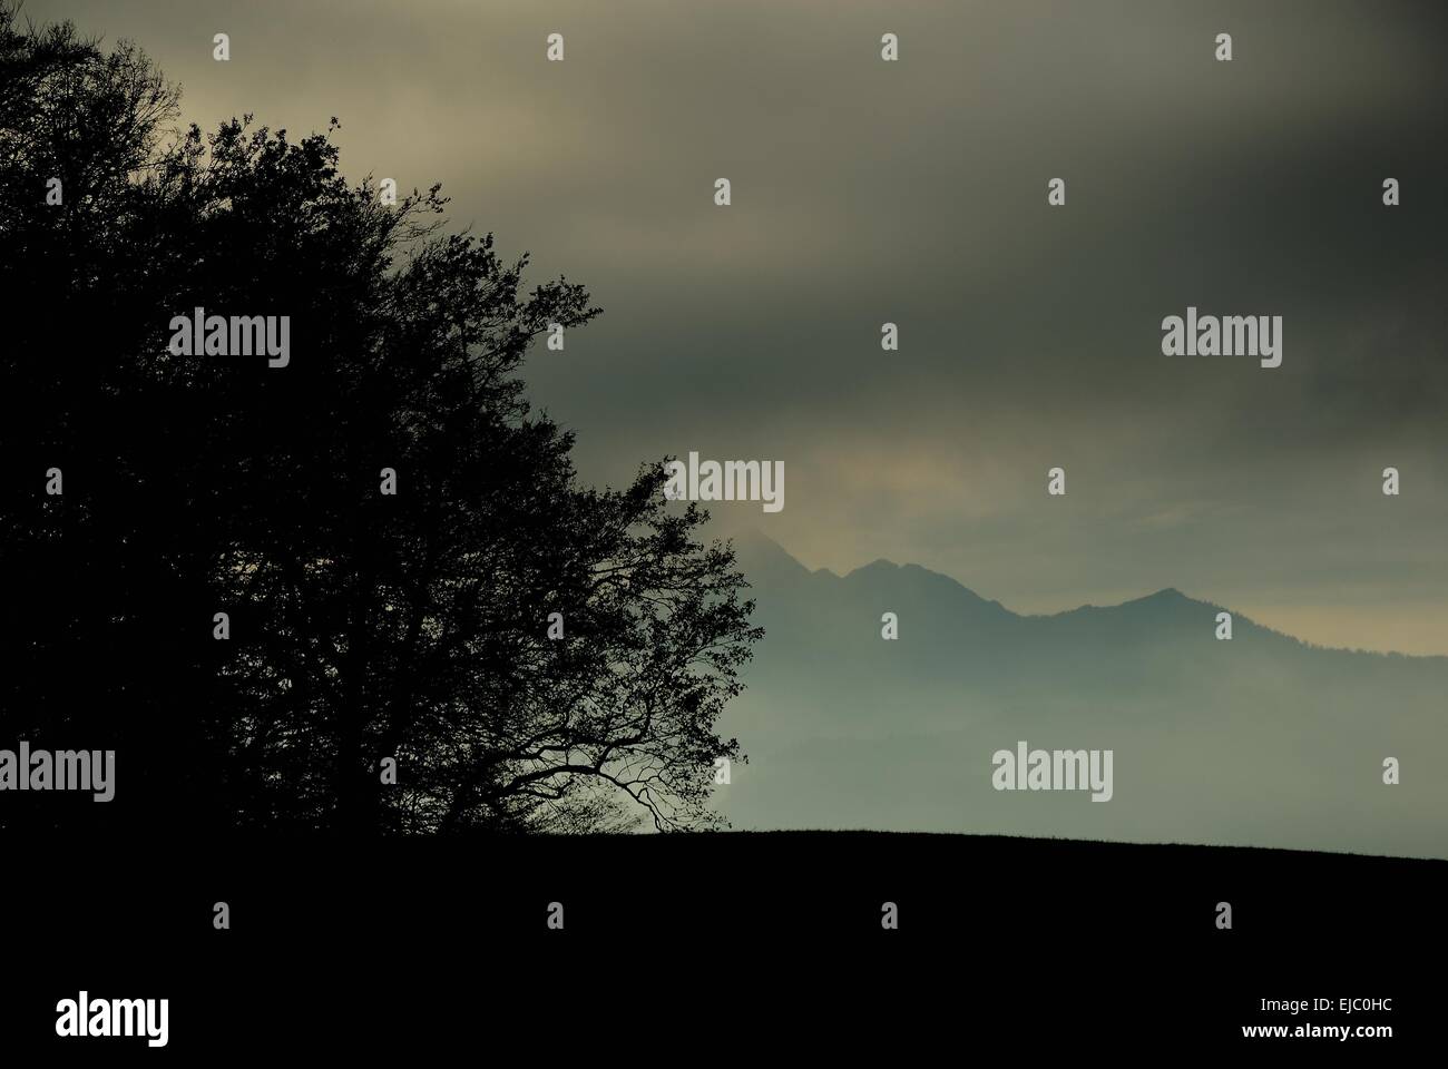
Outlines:
[[[879, 829], [1448, 856], [1448, 658], [1312, 646], [1176, 588], [1022, 616], [879, 559], [734, 540], [766, 636], [727, 714], [743, 829]], [[882, 639], [895, 613], [899, 639]], [[1112, 801], [995, 791], [992, 755], [1112, 749]], [[1402, 782], [1383, 782], [1383, 762]]]

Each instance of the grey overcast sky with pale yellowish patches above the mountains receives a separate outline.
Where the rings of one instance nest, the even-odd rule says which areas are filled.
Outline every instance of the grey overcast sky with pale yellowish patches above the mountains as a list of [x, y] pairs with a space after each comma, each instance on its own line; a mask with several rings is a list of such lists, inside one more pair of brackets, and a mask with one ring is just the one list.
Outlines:
[[[1177, 587], [1326, 645], [1448, 653], [1448, 9], [26, 12], [136, 41], [203, 127], [334, 114], [349, 175], [442, 181], [456, 226], [588, 284], [604, 316], [527, 378], [591, 481], [778, 459], [783, 511], [715, 526], [812, 568], [915, 562], [1019, 611]], [[1281, 366], [1164, 356], [1187, 306], [1281, 316]]]

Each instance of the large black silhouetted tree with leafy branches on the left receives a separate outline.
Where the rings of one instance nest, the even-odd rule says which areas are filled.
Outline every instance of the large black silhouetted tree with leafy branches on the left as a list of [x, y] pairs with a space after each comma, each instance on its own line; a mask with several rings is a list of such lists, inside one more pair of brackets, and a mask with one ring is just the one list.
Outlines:
[[[760, 630], [660, 464], [579, 485], [530, 410], [524, 353], [598, 314], [586, 291], [524, 293], [526, 256], [440, 235], [437, 187], [349, 187], [330, 129], [168, 138], [177, 94], [129, 45], [0, 12], [0, 87], [23, 311], [0, 747], [117, 750], [116, 802], [10, 795], [0, 826], [717, 823], [714, 762], [740, 753], [715, 723]], [[290, 362], [172, 352], [198, 307], [290, 317]]]

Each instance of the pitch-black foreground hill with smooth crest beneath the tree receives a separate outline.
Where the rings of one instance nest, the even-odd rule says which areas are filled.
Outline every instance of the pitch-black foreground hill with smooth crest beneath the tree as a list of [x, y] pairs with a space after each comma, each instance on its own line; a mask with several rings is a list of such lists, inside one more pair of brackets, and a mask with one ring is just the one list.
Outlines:
[[582, 1041], [597, 1015], [786, 1046], [1069, 1026], [1111, 1052], [1241, 1043], [1277, 1020], [1263, 998], [1386, 997], [1400, 1030], [1426, 1020], [1448, 862], [818, 831], [111, 843], [3, 894], [25, 963], [0, 985], [7, 1043], [48, 1041], [85, 988], [171, 998], [191, 1052]]

